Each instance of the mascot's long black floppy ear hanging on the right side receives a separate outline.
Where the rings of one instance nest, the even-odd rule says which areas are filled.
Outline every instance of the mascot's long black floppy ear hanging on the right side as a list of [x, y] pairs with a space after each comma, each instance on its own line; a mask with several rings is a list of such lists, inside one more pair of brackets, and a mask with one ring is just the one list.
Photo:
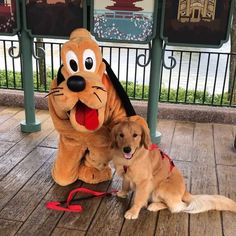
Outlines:
[[109, 65], [109, 63], [103, 58], [103, 62], [106, 65], [106, 71], [108, 74], [109, 79], [112, 82], [112, 85], [114, 86], [117, 94], [120, 97], [120, 100], [122, 101], [122, 104], [125, 108], [126, 111], [126, 115], [127, 116], [134, 116], [136, 115], [136, 112], [129, 100], [129, 97], [127, 95], [127, 93], [125, 92], [124, 88], [122, 87], [120, 81], [118, 80], [118, 78], [116, 77], [115, 73], [113, 72], [113, 70], [111, 69], [111, 66]]

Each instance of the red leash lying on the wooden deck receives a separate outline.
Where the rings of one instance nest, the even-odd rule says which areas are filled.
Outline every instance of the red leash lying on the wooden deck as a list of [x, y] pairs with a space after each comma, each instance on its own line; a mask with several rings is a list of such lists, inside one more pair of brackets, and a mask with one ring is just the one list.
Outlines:
[[[62, 202], [48, 202], [46, 204], [46, 208], [57, 210], [57, 211], [68, 211], [68, 212], [82, 212], [83, 207], [79, 204], [72, 204], [81, 200], [90, 199], [94, 197], [104, 197], [104, 196], [112, 196], [112, 194], [116, 193], [117, 190], [112, 190], [111, 192], [97, 192], [87, 188], [76, 188], [72, 190], [66, 201]], [[73, 199], [76, 193], [88, 193], [90, 196]]]

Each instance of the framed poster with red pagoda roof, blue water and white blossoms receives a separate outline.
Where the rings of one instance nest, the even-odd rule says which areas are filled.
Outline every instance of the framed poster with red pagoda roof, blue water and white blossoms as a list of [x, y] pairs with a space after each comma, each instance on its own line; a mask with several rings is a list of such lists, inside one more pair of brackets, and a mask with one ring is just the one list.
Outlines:
[[91, 32], [97, 40], [148, 43], [155, 37], [155, 0], [93, 0]]

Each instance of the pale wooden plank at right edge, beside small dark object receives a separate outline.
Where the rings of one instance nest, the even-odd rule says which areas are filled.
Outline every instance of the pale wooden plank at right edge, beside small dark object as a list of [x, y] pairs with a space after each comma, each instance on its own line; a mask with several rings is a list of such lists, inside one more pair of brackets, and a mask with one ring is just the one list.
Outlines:
[[233, 126], [214, 124], [214, 145], [216, 163], [236, 165], [236, 155], [233, 148]]

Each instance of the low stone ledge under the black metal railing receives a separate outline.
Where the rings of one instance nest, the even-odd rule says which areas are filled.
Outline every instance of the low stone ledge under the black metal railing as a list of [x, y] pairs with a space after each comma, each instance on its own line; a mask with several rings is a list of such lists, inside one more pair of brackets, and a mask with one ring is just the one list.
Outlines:
[[[46, 93], [35, 92], [35, 107], [47, 110]], [[147, 102], [132, 101], [137, 114], [146, 117]], [[0, 89], [0, 105], [24, 107], [23, 91]], [[160, 119], [236, 124], [236, 108], [159, 103]]]

